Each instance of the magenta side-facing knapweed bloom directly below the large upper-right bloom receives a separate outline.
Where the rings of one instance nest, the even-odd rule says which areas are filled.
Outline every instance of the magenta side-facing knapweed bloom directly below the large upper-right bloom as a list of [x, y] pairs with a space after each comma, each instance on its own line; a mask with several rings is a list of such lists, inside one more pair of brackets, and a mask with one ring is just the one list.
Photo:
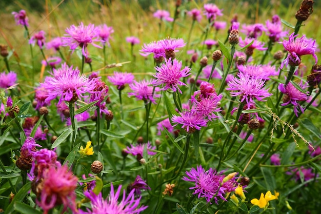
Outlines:
[[[303, 85], [302, 81], [298, 85], [302, 89], [306, 89], [308, 87], [307, 84]], [[309, 96], [307, 93], [299, 91], [292, 83], [288, 83], [286, 86], [284, 84], [279, 84], [278, 89], [284, 93], [283, 104], [281, 104], [282, 106], [286, 106], [291, 103], [294, 106], [294, 113], [296, 116], [298, 116], [298, 110], [302, 113], [304, 112], [304, 108], [299, 104], [299, 102], [308, 100]]]

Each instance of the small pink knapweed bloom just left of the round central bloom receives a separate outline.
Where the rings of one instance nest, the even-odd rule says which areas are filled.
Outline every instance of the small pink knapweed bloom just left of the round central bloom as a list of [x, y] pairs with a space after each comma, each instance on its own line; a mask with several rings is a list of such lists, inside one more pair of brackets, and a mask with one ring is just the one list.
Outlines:
[[155, 98], [160, 98], [160, 94], [156, 94], [157, 91], [160, 91], [159, 88], [155, 88], [153, 86], [150, 86], [152, 84], [152, 81], [145, 81], [142, 80], [140, 82], [134, 81], [132, 84], [129, 85], [130, 89], [133, 90], [133, 92], [129, 92], [129, 96], [135, 96], [137, 100], [143, 100], [144, 102], [152, 102], [153, 104], [156, 104]]

